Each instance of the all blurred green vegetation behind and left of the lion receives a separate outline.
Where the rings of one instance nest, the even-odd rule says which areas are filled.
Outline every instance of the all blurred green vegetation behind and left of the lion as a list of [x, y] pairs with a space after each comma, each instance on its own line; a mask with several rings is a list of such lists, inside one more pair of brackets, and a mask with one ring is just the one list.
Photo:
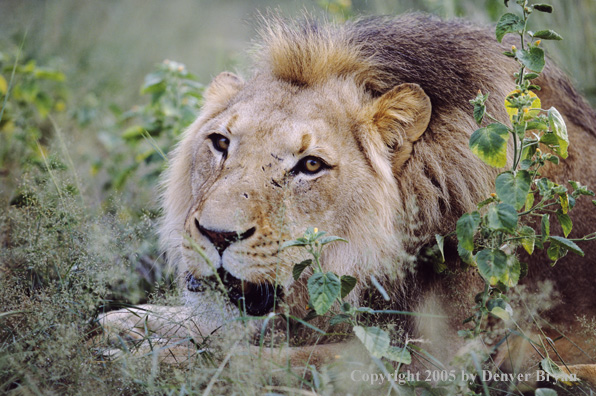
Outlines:
[[[550, 3], [531, 23], [562, 34], [547, 53], [596, 106], [596, 1]], [[196, 115], [203, 85], [249, 69], [267, 9], [482, 24], [504, 12], [502, 0], [0, 1], [0, 394], [273, 391], [247, 367], [213, 382], [209, 359], [189, 374], [103, 362], [90, 344], [106, 309], [177, 302], [155, 236], [159, 151]]]

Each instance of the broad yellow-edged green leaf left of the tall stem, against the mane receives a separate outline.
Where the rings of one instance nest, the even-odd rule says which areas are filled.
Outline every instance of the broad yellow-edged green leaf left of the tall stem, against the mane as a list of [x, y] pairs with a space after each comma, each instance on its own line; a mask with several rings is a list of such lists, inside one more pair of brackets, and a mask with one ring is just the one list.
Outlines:
[[509, 130], [503, 124], [490, 124], [470, 136], [470, 149], [487, 165], [502, 168], [507, 164]]

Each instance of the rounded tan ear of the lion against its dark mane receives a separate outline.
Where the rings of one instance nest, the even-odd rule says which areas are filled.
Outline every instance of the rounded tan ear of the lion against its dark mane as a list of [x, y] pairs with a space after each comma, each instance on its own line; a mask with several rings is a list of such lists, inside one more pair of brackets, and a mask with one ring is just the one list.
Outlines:
[[399, 170], [412, 152], [412, 143], [422, 136], [432, 106], [418, 84], [401, 84], [373, 104], [372, 121], [381, 138], [393, 150], [393, 169]]

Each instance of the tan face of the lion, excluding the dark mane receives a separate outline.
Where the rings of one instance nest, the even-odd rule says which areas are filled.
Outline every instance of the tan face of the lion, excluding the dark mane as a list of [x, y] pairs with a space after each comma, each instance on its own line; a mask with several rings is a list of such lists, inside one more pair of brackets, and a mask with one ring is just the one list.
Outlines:
[[[409, 98], [416, 88], [406, 88]], [[218, 272], [247, 300], [254, 294], [253, 314], [266, 313], [272, 303], [263, 294], [273, 295], [273, 285], [287, 289], [293, 264], [304, 259], [280, 246], [309, 226], [350, 240], [324, 257], [341, 274], [358, 276], [388, 246], [399, 249], [391, 213], [398, 204], [392, 156], [400, 150], [375, 124], [388, 122], [379, 114], [387, 110], [384, 96], [373, 100], [343, 80], [296, 87], [263, 76], [244, 83], [228, 73], [206, 97], [203, 116], [174, 155], [170, 172], [185, 174], [166, 191], [166, 225], [180, 235], [178, 269], [189, 290]], [[407, 134], [395, 139], [407, 146]]]

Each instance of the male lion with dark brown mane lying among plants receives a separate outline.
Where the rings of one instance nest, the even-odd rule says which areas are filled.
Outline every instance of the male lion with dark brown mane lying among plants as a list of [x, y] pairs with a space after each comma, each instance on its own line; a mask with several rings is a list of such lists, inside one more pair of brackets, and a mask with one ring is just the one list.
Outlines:
[[[341, 26], [274, 19], [262, 37], [249, 79], [224, 72], [206, 90], [201, 115], [171, 153], [163, 179], [160, 234], [186, 308], [117, 311], [104, 316], [104, 325], [133, 337], [135, 327], [199, 337], [238, 316], [239, 306], [249, 316], [304, 317], [307, 275], [292, 277], [304, 257], [280, 245], [314, 226], [349, 241], [329, 245], [322, 263], [358, 278], [353, 305], [366, 299], [446, 318], [390, 320], [429, 340], [424, 348], [449, 362], [463, 345], [457, 331], [482, 282], [460, 268], [453, 247], [446, 249], [450, 275], [436, 274], [417, 256], [494, 189], [497, 171], [468, 148], [477, 129], [469, 99], [490, 92], [488, 111], [506, 121], [503, 99], [515, 86], [517, 63], [501, 55], [506, 47], [489, 30], [417, 14]], [[543, 107], [566, 117], [572, 141], [569, 158], [548, 176], [596, 183], [596, 114], [555, 67], [537, 83]], [[596, 211], [580, 204], [573, 215], [571, 237], [594, 231]], [[567, 257], [553, 268], [540, 254], [527, 258], [522, 286], [528, 301], [540, 287], [552, 289], [558, 304], [534, 301], [535, 309], [543, 336], [565, 335], [555, 346], [570, 363], [596, 356], [578, 321], [596, 314], [596, 244], [582, 248], [585, 259]], [[370, 290], [371, 275], [390, 302]], [[209, 284], [227, 289], [223, 308]], [[186, 325], [166, 329], [175, 322], [169, 314]], [[260, 334], [263, 321], [251, 323]], [[289, 328], [298, 346], [285, 356], [306, 360], [313, 331], [295, 322]], [[333, 356], [338, 345], [319, 345], [311, 361]], [[594, 368], [572, 369], [595, 381]]]

